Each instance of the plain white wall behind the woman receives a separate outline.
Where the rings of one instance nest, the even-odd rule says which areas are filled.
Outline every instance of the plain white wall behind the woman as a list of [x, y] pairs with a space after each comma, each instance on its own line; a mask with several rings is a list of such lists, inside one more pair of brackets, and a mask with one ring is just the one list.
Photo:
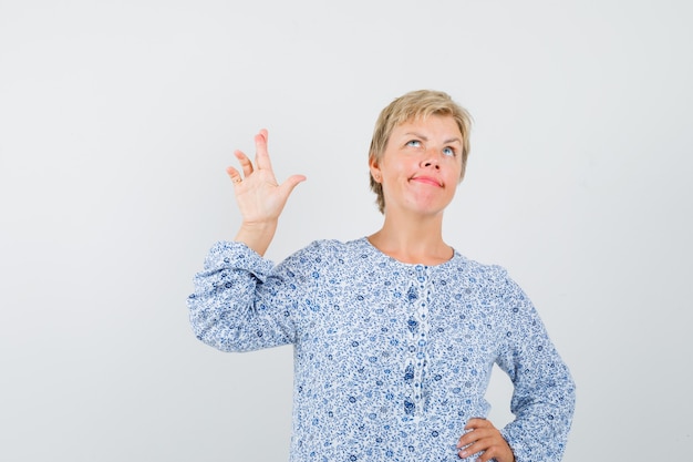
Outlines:
[[475, 119], [446, 239], [509, 269], [577, 381], [565, 461], [690, 453], [692, 23], [684, 0], [0, 1], [0, 459], [286, 460], [291, 349], [188, 327], [238, 225], [224, 168], [267, 127], [278, 176], [308, 176], [275, 260], [370, 234], [373, 123], [421, 88]]

